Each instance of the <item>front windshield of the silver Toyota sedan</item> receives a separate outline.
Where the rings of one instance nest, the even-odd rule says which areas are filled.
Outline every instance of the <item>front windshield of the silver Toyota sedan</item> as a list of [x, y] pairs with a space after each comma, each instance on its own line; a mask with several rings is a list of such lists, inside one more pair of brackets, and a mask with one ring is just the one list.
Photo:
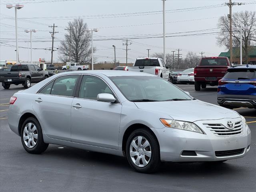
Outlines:
[[110, 77], [122, 94], [134, 102], [192, 100], [193, 98], [169, 83], [155, 76]]

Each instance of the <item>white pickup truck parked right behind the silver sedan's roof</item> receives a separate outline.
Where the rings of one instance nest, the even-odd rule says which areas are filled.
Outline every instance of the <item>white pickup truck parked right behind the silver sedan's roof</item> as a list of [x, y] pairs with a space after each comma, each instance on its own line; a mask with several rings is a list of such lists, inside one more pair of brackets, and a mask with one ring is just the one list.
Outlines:
[[128, 70], [154, 74], [165, 80], [169, 79], [170, 73], [161, 58], [137, 58], [136, 62]]

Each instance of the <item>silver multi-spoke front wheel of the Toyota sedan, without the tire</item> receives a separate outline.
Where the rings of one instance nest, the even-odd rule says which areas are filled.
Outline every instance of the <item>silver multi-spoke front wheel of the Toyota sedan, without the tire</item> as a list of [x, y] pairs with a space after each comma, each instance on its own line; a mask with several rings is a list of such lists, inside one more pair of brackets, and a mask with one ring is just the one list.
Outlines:
[[130, 157], [138, 167], [145, 167], [151, 159], [151, 146], [143, 136], [136, 136], [130, 144]]

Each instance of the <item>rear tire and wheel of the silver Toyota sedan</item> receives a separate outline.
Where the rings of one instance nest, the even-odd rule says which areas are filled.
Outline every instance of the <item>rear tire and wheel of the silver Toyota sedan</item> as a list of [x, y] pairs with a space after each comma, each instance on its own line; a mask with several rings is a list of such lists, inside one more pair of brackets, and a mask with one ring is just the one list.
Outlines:
[[24, 149], [31, 154], [40, 154], [44, 152], [49, 145], [44, 143], [42, 128], [38, 120], [34, 117], [29, 117], [24, 121], [20, 131], [20, 138]]

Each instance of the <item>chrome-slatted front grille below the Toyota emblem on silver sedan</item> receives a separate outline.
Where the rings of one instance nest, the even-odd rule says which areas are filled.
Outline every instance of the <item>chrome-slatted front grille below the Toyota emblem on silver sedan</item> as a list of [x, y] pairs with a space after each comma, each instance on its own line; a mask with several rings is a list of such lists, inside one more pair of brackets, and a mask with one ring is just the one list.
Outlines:
[[242, 121], [238, 121], [234, 123], [234, 128], [228, 129], [222, 124], [204, 124], [207, 128], [210, 128], [210, 131], [214, 133], [214, 135], [218, 137], [226, 137], [226, 136], [237, 136], [243, 133], [243, 125]]

